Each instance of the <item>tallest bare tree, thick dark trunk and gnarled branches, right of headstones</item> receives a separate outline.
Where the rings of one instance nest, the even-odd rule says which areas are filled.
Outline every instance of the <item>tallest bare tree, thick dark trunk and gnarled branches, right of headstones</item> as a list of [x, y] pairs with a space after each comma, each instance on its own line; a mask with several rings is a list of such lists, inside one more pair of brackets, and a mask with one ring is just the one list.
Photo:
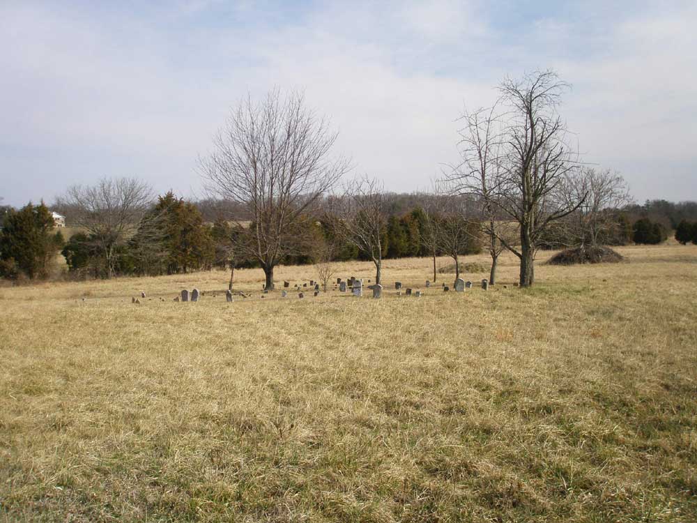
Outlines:
[[499, 86], [500, 110], [480, 109], [466, 118], [461, 137], [466, 168], [452, 176], [459, 179], [461, 192], [478, 195], [489, 212], [515, 222], [519, 247], [493, 228], [490, 232], [519, 257], [522, 287], [535, 282], [535, 253], [542, 234], [585, 199], [564, 194], [567, 176], [579, 168], [557, 112], [567, 88], [551, 70], [506, 79]]

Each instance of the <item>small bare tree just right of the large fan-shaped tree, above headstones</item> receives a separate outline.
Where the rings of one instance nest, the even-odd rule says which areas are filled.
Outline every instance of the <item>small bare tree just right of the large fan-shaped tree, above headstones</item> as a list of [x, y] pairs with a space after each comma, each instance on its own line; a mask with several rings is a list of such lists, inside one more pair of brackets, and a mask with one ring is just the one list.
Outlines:
[[335, 199], [337, 234], [355, 245], [375, 264], [375, 283], [380, 285], [383, 266], [383, 234], [388, 222], [382, 183], [367, 176], [348, 183]]

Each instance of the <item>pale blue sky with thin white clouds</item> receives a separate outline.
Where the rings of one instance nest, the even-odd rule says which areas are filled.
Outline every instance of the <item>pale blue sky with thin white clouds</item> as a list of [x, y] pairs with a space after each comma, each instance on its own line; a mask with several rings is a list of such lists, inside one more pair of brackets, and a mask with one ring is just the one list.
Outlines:
[[428, 190], [457, 121], [552, 68], [584, 162], [637, 202], [697, 199], [697, 1], [0, 0], [0, 197], [129, 176], [204, 197], [198, 158], [248, 94], [304, 91], [337, 155]]

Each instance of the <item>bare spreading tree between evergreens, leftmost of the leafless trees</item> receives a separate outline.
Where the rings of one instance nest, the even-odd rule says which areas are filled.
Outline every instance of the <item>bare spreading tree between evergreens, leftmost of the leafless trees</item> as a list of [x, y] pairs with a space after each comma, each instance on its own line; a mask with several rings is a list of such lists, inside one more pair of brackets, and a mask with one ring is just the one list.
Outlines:
[[72, 185], [59, 205], [71, 209], [72, 225], [84, 229], [102, 252], [107, 278], [111, 278], [117, 248], [137, 232], [152, 199], [147, 183], [135, 178], [103, 178], [96, 185]]

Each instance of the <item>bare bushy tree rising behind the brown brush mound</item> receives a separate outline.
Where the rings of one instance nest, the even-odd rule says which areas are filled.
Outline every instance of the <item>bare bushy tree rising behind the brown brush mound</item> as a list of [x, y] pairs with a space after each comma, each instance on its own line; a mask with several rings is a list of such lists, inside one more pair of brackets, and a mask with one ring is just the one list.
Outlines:
[[577, 245], [597, 247], [615, 227], [618, 209], [631, 203], [627, 182], [617, 172], [585, 167], [567, 176], [562, 194], [567, 205], [582, 201], [567, 217], [567, 227]]

